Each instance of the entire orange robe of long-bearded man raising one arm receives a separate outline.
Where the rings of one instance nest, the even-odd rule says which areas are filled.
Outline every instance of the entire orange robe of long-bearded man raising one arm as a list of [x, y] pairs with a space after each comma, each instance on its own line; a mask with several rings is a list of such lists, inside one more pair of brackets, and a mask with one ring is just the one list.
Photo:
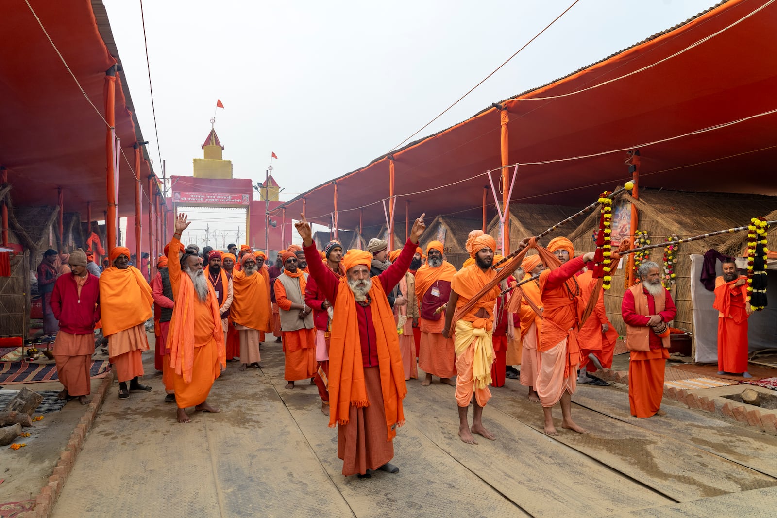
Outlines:
[[[177, 256], [178, 249], [178, 240], [172, 238], [169, 250]], [[176, 297], [168, 334], [170, 375], [176, 405], [189, 408], [207, 399], [221, 367], [226, 367], [224, 328], [211, 283], [207, 283], [207, 299], [200, 301], [188, 273], [181, 272], [180, 262], [168, 259]]]

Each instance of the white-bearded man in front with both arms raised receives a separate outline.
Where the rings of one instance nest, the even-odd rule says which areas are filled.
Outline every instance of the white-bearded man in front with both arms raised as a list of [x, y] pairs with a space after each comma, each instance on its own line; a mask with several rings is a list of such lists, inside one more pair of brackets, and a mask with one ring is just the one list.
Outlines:
[[382, 273], [370, 276], [372, 256], [351, 249], [343, 257], [345, 275], [324, 265], [310, 225], [302, 215], [294, 225], [302, 238], [310, 275], [333, 304], [329, 338], [329, 426], [337, 428], [337, 456], [343, 475], [368, 478], [380, 469], [397, 473], [396, 427], [405, 421], [405, 367], [399, 351], [394, 313], [385, 297], [405, 275], [423, 234], [419, 217], [402, 253]]

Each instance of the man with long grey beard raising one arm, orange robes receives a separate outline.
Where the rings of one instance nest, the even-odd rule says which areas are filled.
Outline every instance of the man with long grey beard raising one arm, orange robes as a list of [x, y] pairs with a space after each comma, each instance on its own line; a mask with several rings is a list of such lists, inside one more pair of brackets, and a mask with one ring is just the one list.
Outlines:
[[224, 329], [213, 287], [207, 282], [200, 258], [189, 250], [178, 259], [181, 232], [189, 226], [186, 214], [176, 217], [176, 233], [168, 247], [168, 273], [176, 304], [168, 343], [176, 393], [178, 422], [191, 422], [186, 408], [221, 412], [207, 403], [215, 379], [226, 367]]

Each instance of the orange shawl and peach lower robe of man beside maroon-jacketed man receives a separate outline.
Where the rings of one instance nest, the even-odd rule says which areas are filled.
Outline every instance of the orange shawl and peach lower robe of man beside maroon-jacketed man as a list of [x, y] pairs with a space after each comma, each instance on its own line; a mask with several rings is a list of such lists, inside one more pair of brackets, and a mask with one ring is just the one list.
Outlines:
[[117, 381], [142, 376], [141, 353], [149, 349], [144, 325], [154, 315], [151, 287], [134, 266], [111, 266], [100, 275], [99, 294], [103, 335]]

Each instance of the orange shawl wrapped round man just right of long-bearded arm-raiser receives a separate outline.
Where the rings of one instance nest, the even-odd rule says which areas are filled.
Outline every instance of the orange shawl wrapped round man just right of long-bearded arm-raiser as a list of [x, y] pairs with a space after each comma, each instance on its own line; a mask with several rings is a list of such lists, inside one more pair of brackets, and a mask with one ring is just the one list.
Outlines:
[[270, 284], [260, 269], [251, 276], [246, 272], [232, 273], [232, 321], [250, 329], [271, 331]]

